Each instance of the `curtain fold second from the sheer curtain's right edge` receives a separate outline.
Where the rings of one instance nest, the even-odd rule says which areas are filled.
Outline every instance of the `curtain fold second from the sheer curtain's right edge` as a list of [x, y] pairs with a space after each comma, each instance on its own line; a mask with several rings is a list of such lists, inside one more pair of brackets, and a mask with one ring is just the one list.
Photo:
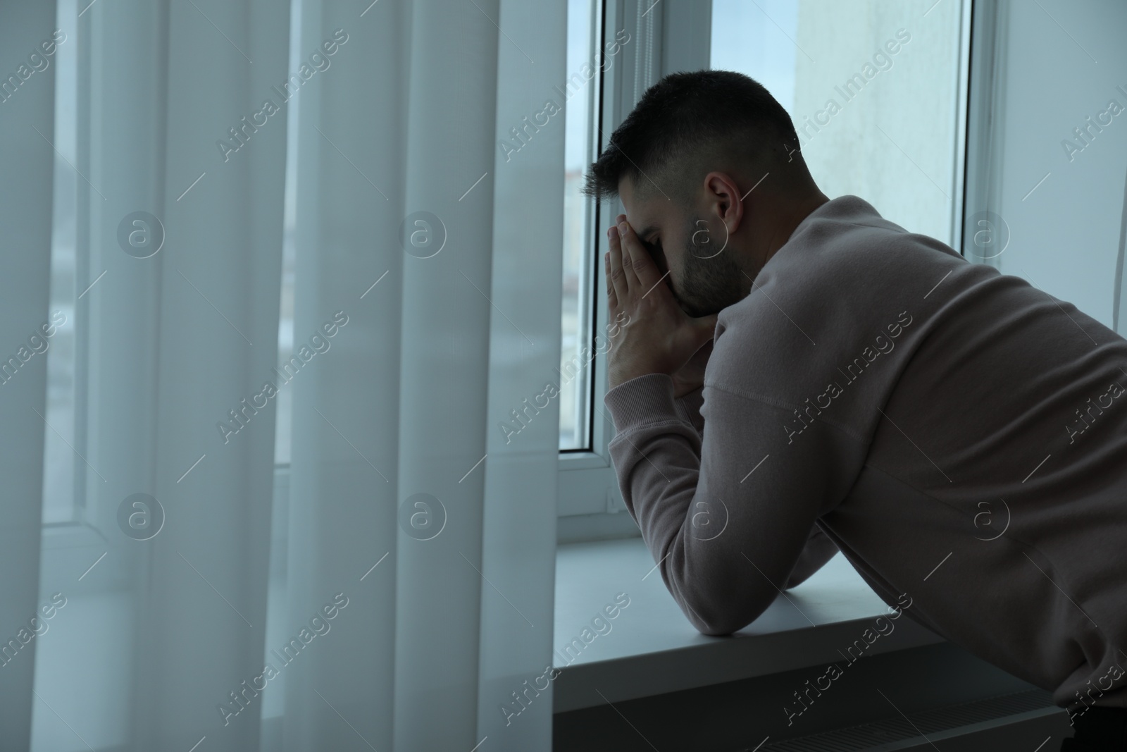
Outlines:
[[[486, 454], [492, 182], [486, 176], [478, 195], [459, 196], [492, 166], [497, 9], [497, 0], [414, 3], [405, 210], [435, 215], [442, 224], [432, 231], [444, 225], [447, 237], [436, 255], [416, 250], [403, 259], [399, 498], [420, 495], [434, 507], [429, 514], [445, 517], [445, 529], [431, 540], [400, 536], [394, 742], [401, 750], [480, 741], [485, 469], [470, 469]], [[419, 225], [410, 224], [415, 237]], [[441, 724], [432, 720], [436, 708], [445, 709]]]

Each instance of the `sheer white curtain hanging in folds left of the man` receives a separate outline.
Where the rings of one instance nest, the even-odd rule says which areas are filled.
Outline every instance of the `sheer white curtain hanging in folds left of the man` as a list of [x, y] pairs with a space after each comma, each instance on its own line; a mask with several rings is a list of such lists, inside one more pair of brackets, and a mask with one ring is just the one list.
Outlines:
[[[559, 357], [564, 127], [525, 117], [564, 78], [564, 5], [16, 6], [0, 747], [550, 749], [558, 421], [498, 424]], [[55, 29], [72, 159], [59, 67], [19, 68]], [[511, 129], [529, 148], [507, 158]], [[79, 176], [72, 432], [21, 354], [52, 320], [56, 169]], [[53, 434], [74, 513], [44, 528]]]

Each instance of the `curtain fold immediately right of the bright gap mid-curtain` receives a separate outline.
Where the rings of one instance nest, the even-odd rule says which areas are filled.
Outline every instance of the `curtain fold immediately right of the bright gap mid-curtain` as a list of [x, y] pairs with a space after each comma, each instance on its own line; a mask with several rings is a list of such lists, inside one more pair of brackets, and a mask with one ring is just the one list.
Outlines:
[[[286, 752], [389, 750], [392, 743], [403, 263], [393, 244], [403, 206], [400, 103], [410, 8], [301, 3], [298, 55], [308, 60], [326, 42], [335, 52], [292, 105], [294, 350], [319, 331], [328, 350], [287, 387], [283, 630], [289, 638], [320, 612], [328, 631], [308, 657], [284, 669]], [[347, 320], [343, 327], [334, 326], [337, 313]], [[334, 336], [323, 335], [326, 324]], [[343, 609], [335, 609], [337, 594]], [[323, 619], [326, 605], [332, 619]]]

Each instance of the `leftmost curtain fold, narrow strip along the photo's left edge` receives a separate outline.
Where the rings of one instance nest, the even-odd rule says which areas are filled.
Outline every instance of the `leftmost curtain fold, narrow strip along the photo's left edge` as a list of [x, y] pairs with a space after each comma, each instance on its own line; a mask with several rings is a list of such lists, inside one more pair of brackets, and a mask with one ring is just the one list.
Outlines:
[[[39, 529], [43, 519], [43, 437], [47, 431], [46, 359], [33, 357], [28, 338], [47, 321], [51, 272], [51, 203], [54, 150], [53, 78], [32, 72], [25, 57], [50, 39], [52, 3], [0, 5], [0, 647], [19, 640], [36, 616]], [[41, 53], [42, 55], [42, 53]], [[17, 65], [23, 67], [20, 72]], [[27, 76], [25, 79], [24, 76]], [[16, 359], [12, 363], [11, 359]], [[34, 409], [33, 409], [34, 408]], [[36, 414], [38, 410], [38, 415]], [[0, 666], [0, 746], [26, 749], [32, 728], [32, 655], [3, 655]], [[23, 649], [23, 648], [21, 648]], [[20, 658], [20, 660], [16, 660]]]

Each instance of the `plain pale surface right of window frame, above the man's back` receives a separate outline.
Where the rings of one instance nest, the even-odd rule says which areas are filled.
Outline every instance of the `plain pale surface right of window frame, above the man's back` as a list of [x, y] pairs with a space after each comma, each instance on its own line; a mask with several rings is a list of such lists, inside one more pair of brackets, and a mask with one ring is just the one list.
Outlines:
[[983, 130], [964, 248], [968, 260], [1022, 277], [1124, 336], [1127, 3], [1099, 14], [1075, 7], [1008, 5], [997, 62], [1006, 73], [988, 106], [975, 97]]

